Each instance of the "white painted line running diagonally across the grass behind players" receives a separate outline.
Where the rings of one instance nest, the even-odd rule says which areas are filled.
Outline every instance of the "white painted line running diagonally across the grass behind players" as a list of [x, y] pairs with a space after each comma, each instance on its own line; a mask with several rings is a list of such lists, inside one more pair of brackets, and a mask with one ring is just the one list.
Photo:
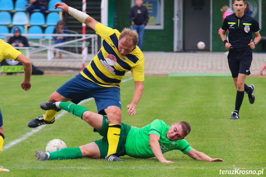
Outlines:
[[[131, 80], [131, 79], [133, 79], [133, 78], [130, 77], [130, 78], [128, 78], [128, 79], [123, 80], [122, 82], [126, 82], [126, 81], [129, 81], [129, 80]], [[86, 102], [88, 102], [88, 101], [90, 101], [90, 100], [92, 100], [92, 99], [93, 99], [93, 98], [89, 98], [89, 99], [82, 100], [82, 101], [79, 103], [79, 105], [81, 105], [81, 104], [83, 104], [83, 103], [86, 103]], [[59, 119], [60, 117], [62, 117], [63, 115], [65, 115], [66, 113], [67, 113], [67, 111], [64, 111], [64, 110], [63, 110], [63, 112], [61, 112], [59, 115], [56, 116], [56, 120]], [[40, 131], [43, 127], [45, 127], [45, 126], [47, 126], [47, 125], [39, 126], [39, 127], [35, 128], [35, 129], [33, 129], [32, 131], [26, 133], [26, 135], [23, 135], [22, 137], [20, 137], [20, 138], [18, 138], [18, 139], [15, 139], [14, 141], [11, 141], [11, 142], [8, 143], [7, 145], [3, 146], [2, 151], [4, 151], [4, 150], [6, 150], [6, 149], [8, 149], [8, 148], [10, 148], [10, 147], [12, 147], [12, 146], [14, 146], [14, 145], [20, 143], [21, 141], [23, 141], [23, 140], [25, 140], [25, 139], [27, 139], [29, 136], [31, 136], [31, 135], [33, 135], [33, 134], [39, 132], [39, 131]]]

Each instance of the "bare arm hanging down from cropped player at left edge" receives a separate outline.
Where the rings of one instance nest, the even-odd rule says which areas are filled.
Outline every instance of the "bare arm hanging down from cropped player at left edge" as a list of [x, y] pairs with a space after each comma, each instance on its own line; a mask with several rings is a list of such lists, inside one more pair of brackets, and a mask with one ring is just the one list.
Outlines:
[[25, 91], [28, 91], [31, 89], [31, 61], [23, 54], [18, 55], [16, 61], [21, 62], [23, 64], [24, 80], [21, 82], [21, 88]]

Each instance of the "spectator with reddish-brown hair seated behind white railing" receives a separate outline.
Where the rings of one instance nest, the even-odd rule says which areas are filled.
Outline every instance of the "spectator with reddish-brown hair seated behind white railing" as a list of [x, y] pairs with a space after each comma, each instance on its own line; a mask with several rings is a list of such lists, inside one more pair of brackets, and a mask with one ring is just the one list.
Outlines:
[[[68, 30], [68, 27], [65, 25], [63, 20], [59, 20], [57, 22], [57, 25], [55, 26], [53, 34], [62, 34], [62, 33], [68, 33], [67, 31], [63, 32], [63, 30]], [[55, 39], [55, 44], [61, 43], [61, 42], [66, 42], [66, 39], [68, 38], [67, 36], [59, 36], [53, 37]], [[56, 47], [62, 50], [62, 47]], [[55, 54], [55, 53], [54, 53]], [[59, 58], [62, 59], [62, 54], [59, 52]]]

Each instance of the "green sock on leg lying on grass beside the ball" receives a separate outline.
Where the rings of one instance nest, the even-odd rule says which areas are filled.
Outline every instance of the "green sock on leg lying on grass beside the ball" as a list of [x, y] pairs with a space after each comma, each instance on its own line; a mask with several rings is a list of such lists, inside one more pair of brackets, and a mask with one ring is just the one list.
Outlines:
[[50, 160], [78, 159], [82, 158], [82, 152], [79, 147], [63, 148], [59, 151], [50, 152]]

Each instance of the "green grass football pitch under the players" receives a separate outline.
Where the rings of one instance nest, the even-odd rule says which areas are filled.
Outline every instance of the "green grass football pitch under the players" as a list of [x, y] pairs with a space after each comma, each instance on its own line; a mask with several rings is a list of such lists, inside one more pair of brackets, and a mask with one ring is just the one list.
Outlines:
[[[29, 120], [45, 114], [39, 103], [48, 101], [49, 95], [72, 77], [32, 76], [31, 90], [23, 91], [20, 88], [23, 76], [0, 76], [0, 107], [6, 131], [0, 165], [10, 170], [1, 176], [218, 176], [220, 170], [235, 169], [264, 169], [261, 176], [265, 176], [266, 82], [262, 77], [246, 79], [247, 85], [255, 85], [256, 101], [251, 105], [245, 94], [239, 120], [230, 120], [236, 95], [231, 77], [146, 76], [135, 116], [129, 116], [126, 109], [133, 96], [134, 82], [122, 84], [123, 123], [143, 127], [154, 119], [162, 119], [169, 126], [186, 121], [192, 127], [186, 137], [190, 146], [224, 162], [196, 161], [181, 151], [164, 154], [175, 163], [129, 156], [122, 157], [123, 163], [86, 158], [36, 161], [35, 151], [45, 151], [51, 139], [62, 139], [68, 147], [78, 147], [101, 138], [83, 120], [63, 111], [52, 125], [27, 127]], [[81, 105], [96, 112], [93, 99]]]

